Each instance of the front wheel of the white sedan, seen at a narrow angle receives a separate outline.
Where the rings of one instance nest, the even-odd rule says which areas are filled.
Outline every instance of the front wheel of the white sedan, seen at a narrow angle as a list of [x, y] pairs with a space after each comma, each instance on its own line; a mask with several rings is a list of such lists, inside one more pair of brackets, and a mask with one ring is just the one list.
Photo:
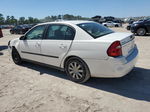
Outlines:
[[12, 59], [13, 59], [13, 62], [17, 65], [20, 65], [22, 63], [22, 59], [18, 51], [15, 48], [12, 49]]

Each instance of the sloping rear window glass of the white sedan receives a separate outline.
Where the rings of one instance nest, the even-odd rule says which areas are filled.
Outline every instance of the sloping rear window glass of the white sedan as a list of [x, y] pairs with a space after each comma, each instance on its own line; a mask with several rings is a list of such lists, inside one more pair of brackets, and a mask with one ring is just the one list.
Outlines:
[[95, 39], [114, 32], [98, 23], [81, 23], [78, 26]]

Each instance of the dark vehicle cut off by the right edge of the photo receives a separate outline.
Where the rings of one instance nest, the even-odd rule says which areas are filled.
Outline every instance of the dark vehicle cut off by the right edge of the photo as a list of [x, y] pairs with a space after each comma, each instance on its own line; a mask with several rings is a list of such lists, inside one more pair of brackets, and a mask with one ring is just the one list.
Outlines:
[[144, 36], [150, 33], [150, 19], [137, 21], [131, 25], [131, 32], [139, 36]]

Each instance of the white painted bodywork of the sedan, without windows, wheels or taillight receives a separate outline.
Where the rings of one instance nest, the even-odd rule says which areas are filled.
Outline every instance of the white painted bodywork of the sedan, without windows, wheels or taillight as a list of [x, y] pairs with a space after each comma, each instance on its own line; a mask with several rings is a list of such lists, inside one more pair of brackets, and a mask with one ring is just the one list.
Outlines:
[[[9, 51], [11, 53], [11, 48], [14, 46], [23, 59], [29, 59], [60, 68], [64, 68], [66, 58], [69, 56], [76, 56], [81, 58], [87, 64], [91, 77], [122, 77], [133, 69], [137, 60], [138, 50], [134, 43], [134, 37], [132, 34], [114, 32], [94, 39], [91, 35], [77, 26], [77, 24], [80, 23], [94, 22], [63, 21], [40, 24], [64, 24], [73, 27], [76, 30], [73, 41], [14, 39], [10, 41]], [[107, 49], [114, 41], [121, 42], [123, 52], [122, 56], [108, 56]], [[25, 54], [21, 52], [23, 50], [43, 55], [58, 56], [59, 58]]]

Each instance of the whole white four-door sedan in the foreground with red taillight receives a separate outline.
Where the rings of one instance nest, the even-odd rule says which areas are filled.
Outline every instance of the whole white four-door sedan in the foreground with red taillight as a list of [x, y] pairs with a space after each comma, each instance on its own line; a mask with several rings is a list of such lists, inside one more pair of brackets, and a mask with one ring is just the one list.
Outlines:
[[122, 77], [133, 69], [138, 55], [132, 34], [91, 21], [39, 24], [8, 46], [15, 64], [51, 65], [78, 83], [90, 77]]

